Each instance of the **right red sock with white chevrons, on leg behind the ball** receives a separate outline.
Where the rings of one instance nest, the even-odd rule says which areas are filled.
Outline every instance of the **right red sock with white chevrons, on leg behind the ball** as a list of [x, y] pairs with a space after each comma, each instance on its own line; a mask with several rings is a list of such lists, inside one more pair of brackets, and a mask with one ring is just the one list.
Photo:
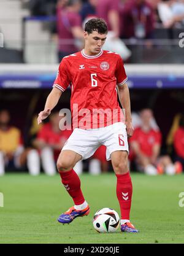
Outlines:
[[121, 209], [121, 219], [129, 220], [129, 212], [132, 201], [132, 181], [129, 172], [116, 174], [117, 176], [117, 198]]

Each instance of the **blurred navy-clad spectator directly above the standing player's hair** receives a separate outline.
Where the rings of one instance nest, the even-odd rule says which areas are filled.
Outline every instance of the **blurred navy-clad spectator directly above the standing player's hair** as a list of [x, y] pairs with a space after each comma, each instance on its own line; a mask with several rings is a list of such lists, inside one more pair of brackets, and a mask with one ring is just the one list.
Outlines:
[[96, 6], [98, 4], [98, 0], [89, 0], [85, 2], [80, 10], [80, 15], [82, 17], [82, 21], [86, 18], [94, 18], [96, 17]]

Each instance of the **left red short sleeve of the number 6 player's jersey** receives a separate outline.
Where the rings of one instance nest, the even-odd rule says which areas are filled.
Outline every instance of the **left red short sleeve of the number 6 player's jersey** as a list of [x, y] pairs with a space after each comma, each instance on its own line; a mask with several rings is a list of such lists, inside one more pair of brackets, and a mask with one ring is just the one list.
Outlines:
[[56, 87], [61, 91], [65, 91], [70, 83], [69, 70], [67, 68], [66, 60], [63, 58], [59, 64], [58, 74], [55, 82], [53, 83], [53, 87]]

